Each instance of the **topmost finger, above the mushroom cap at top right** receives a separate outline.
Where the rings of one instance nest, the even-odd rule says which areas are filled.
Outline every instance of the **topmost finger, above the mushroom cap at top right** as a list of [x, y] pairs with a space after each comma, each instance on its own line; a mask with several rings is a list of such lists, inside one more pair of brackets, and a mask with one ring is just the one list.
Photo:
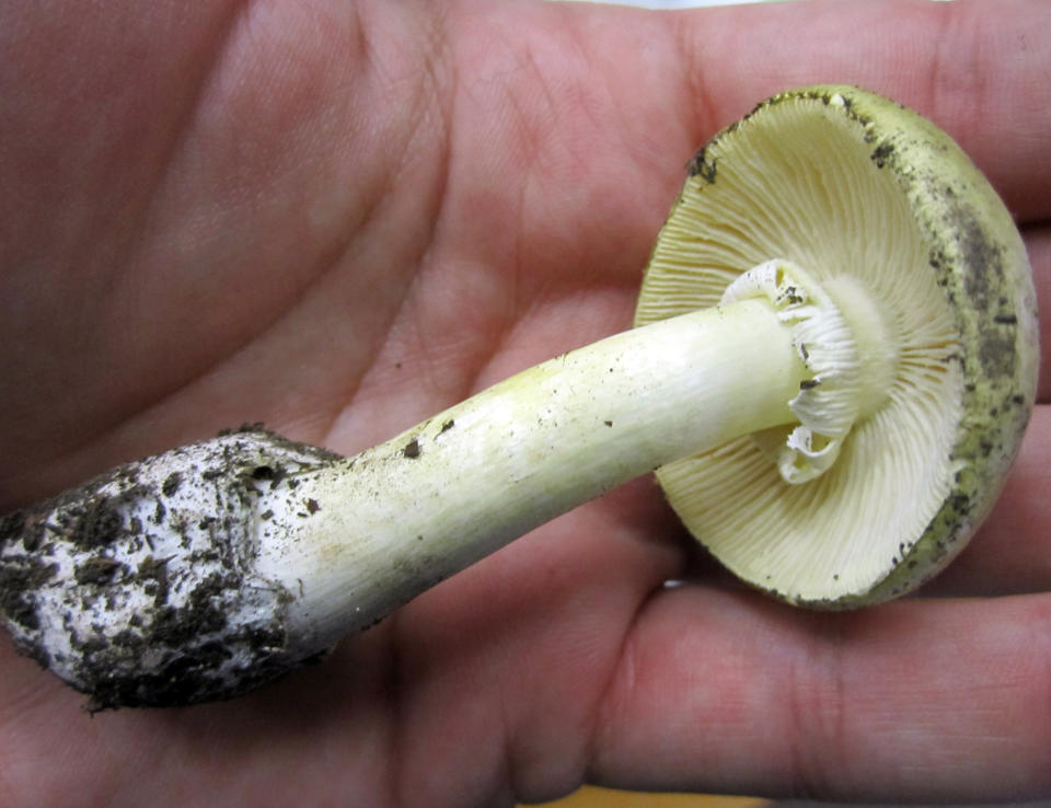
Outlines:
[[812, 2], [677, 15], [698, 137], [758, 99], [836, 82], [934, 119], [1024, 220], [1051, 215], [1051, 4]]

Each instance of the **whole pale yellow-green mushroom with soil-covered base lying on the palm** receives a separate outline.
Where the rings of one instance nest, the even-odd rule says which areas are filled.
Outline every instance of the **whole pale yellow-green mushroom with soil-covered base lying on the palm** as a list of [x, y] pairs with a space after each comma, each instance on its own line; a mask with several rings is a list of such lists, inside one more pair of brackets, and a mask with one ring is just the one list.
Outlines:
[[697, 154], [636, 326], [351, 458], [243, 428], [4, 517], [15, 646], [99, 708], [231, 697], [654, 469], [753, 586], [874, 603], [974, 532], [1036, 394], [1010, 216], [853, 88], [774, 96]]

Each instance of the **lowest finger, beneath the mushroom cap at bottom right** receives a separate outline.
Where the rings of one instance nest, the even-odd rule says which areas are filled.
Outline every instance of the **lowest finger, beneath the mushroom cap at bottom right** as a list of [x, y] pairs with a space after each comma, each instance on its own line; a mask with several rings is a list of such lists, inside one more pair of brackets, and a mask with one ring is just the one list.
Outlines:
[[590, 775], [832, 799], [1046, 796], [1049, 637], [1049, 596], [807, 614], [667, 590], [625, 644]]

